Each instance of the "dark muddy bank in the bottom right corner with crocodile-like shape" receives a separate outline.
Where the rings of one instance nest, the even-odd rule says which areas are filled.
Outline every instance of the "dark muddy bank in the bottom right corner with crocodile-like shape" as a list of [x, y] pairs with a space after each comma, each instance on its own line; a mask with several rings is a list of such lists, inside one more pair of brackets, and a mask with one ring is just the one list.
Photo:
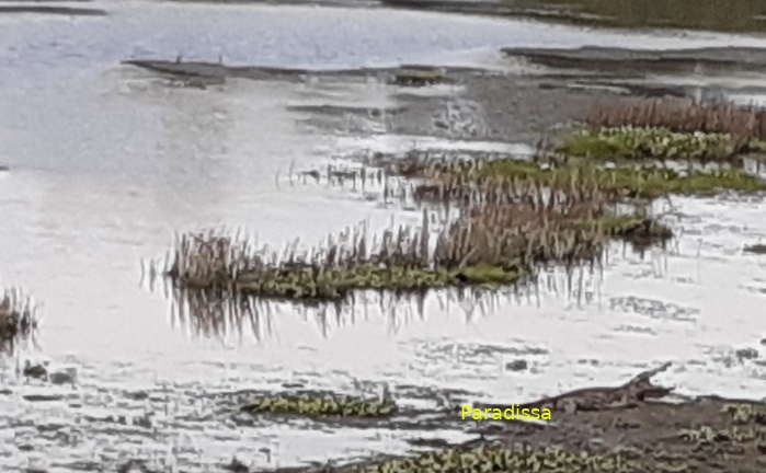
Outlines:
[[[587, 388], [516, 405], [519, 412], [550, 408], [549, 422], [511, 418], [505, 412], [511, 405], [473, 405], [472, 414], [455, 407], [434, 412], [432, 423], [441, 418], [445, 427], [461, 426], [477, 439], [460, 446], [434, 445], [435, 452], [411, 457], [277, 471], [763, 471], [766, 403], [716, 396], [661, 401], [673, 389], [655, 384], [651, 378], [668, 365], [644, 371], [620, 387]], [[477, 409], [483, 411], [483, 417]], [[568, 469], [561, 470], [564, 464], [559, 462], [567, 458]], [[242, 465], [241, 471], [249, 471]]]

